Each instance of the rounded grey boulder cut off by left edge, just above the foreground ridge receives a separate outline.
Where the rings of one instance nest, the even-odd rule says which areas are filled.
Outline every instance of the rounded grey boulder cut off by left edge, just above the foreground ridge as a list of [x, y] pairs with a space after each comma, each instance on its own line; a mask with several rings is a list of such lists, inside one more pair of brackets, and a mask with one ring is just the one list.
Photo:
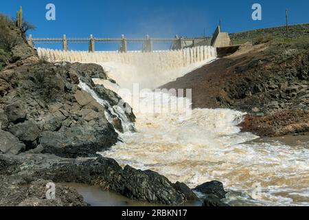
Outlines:
[[0, 153], [17, 155], [25, 150], [25, 144], [7, 131], [0, 129]]

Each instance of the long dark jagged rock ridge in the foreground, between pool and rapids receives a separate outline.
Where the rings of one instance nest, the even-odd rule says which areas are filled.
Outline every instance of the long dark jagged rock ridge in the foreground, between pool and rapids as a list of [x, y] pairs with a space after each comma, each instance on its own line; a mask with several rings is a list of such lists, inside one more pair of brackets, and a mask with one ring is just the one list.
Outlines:
[[22, 184], [45, 179], [55, 183], [100, 186], [131, 199], [166, 205], [179, 205], [191, 200], [192, 197], [187, 195], [193, 193], [183, 184], [177, 184], [182, 185], [181, 188], [176, 187], [167, 178], [151, 170], [136, 170], [130, 166], [122, 169], [114, 159], [105, 157], [63, 159], [41, 154], [0, 155], [0, 174]]

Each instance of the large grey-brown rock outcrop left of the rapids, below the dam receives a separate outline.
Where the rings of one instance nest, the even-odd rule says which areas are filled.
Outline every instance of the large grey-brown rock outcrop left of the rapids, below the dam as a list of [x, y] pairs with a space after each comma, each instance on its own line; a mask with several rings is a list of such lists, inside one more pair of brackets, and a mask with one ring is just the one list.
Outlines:
[[[81, 68], [81, 69], [79, 69]], [[41, 145], [43, 153], [61, 157], [95, 155], [118, 141], [115, 131], [122, 130], [121, 120], [113, 115], [106, 120], [106, 107], [79, 87], [82, 80], [111, 107], [121, 98], [103, 86], [95, 86], [91, 77], [106, 78], [100, 65], [78, 63], [32, 63], [4, 70], [0, 78], [10, 83], [8, 94], [1, 97], [1, 129], [10, 131], [27, 147]], [[111, 113], [111, 112], [108, 112]], [[126, 113], [128, 120], [135, 115]], [[120, 123], [117, 122], [117, 118]]]

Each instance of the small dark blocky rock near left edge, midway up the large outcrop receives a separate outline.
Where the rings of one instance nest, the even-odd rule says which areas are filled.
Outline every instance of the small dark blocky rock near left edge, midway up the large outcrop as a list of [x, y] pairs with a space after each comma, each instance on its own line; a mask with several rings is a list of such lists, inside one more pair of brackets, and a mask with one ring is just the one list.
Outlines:
[[19, 122], [25, 120], [25, 104], [21, 100], [8, 104], [4, 107], [4, 111], [8, 116], [9, 122]]

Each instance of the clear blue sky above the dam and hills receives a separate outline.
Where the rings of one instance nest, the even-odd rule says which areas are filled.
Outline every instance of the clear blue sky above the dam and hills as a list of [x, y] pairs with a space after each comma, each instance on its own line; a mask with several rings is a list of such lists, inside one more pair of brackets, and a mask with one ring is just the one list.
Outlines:
[[[47, 3], [56, 5], [56, 21], [45, 19]], [[251, 19], [253, 3], [262, 5], [262, 21]], [[37, 27], [34, 37], [203, 36], [204, 29], [209, 36], [220, 19], [227, 32], [284, 25], [286, 8], [290, 23], [309, 23], [307, 0], [10, 0], [0, 2], [0, 12], [15, 17], [19, 5]]]

